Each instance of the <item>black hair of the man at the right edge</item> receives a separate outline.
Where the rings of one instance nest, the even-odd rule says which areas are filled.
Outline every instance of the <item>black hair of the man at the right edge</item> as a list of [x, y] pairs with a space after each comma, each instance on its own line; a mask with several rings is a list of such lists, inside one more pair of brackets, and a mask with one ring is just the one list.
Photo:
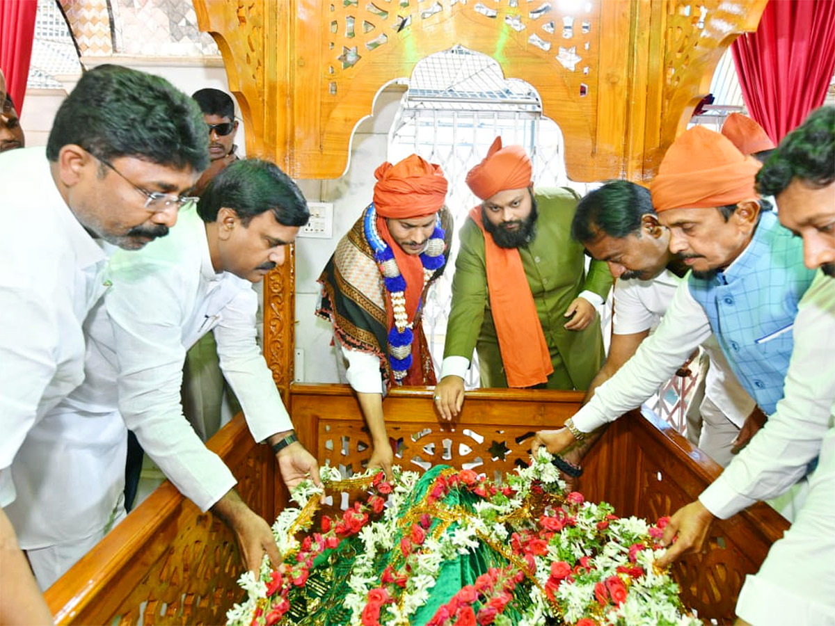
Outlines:
[[761, 194], [781, 194], [801, 179], [822, 188], [835, 180], [835, 107], [821, 107], [787, 134], [757, 173]]

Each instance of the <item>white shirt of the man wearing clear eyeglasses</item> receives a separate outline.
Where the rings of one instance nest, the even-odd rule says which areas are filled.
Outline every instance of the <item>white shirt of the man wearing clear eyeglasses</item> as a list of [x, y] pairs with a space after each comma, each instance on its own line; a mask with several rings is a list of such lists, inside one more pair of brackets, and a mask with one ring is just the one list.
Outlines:
[[83, 381], [82, 321], [106, 255], [64, 203], [43, 148], [0, 154], [0, 505], [27, 432]]

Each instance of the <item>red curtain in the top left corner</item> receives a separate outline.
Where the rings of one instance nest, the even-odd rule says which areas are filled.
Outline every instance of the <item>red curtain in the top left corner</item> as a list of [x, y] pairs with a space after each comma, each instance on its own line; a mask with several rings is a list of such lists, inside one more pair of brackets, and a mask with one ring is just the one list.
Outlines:
[[0, 68], [18, 115], [23, 109], [38, 0], [0, 0]]

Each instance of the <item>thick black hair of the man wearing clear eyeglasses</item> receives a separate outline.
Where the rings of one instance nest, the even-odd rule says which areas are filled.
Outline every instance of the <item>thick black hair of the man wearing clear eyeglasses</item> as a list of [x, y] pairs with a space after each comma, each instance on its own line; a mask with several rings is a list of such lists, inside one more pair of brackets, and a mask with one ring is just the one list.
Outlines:
[[47, 158], [77, 144], [95, 157], [136, 157], [151, 163], [209, 166], [209, 136], [195, 101], [164, 78], [119, 65], [83, 73], [61, 103], [47, 141]]

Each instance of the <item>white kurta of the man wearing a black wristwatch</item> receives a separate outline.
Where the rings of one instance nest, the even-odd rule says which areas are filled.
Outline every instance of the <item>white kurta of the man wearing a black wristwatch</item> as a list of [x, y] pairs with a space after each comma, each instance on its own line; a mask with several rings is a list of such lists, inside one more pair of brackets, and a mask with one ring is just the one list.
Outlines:
[[115, 253], [109, 275], [114, 286], [86, 325], [87, 381], [42, 422], [15, 461], [16, 479], [28, 477], [32, 487], [27, 502], [10, 512], [24, 548], [107, 525], [124, 489], [125, 425], [201, 510], [235, 485], [180, 406], [185, 352], [207, 332], [215, 333], [220, 367], [256, 441], [292, 428], [256, 344], [256, 293], [246, 280], [215, 273], [194, 207], [180, 211], [170, 235]]

